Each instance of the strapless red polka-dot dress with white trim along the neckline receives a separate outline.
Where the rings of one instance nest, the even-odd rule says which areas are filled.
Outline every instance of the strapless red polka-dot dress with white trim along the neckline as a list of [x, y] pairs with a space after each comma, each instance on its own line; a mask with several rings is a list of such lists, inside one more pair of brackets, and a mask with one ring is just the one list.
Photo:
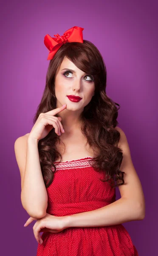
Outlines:
[[[93, 157], [54, 162], [54, 180], [47, 188], [47, 212], [54, 216], [92, 211], [116, 201], [116, 189], [90, 166]], [[110, 182], [110, 181], [109, 181]], [[122, 224], [104, 227], [68, 227], [58, 233], [43, 232], [37, 256], [138, 256]]]

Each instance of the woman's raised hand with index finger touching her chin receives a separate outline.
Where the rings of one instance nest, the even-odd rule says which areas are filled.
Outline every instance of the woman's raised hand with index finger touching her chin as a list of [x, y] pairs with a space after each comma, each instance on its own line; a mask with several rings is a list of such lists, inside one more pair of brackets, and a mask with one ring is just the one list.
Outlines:
[[46, 113], [40, 113], [28, 137], [39, 141], [45, 138], [53, 128], [55, 128], [56, 134], [60, 135], [60, 132], [63, 133], [64, 131], [61, 123], [62, 118], [55, 115], [63, 111], [65, 108], [66, 104], [65, 106], [63, 105]]

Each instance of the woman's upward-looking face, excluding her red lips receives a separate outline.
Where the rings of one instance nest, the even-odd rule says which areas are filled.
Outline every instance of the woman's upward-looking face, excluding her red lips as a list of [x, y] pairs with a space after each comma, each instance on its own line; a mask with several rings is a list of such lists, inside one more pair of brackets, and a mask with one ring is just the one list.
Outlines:
[[[65, 57], [55, 77], [56, 108], [67, 104], [67, 110], [82, 109], [92, 99], [94, 90], [93, 76], [85, 74]], [[79, 96], [82, 99], [79, 102], [72, 102], [67, 95]]]

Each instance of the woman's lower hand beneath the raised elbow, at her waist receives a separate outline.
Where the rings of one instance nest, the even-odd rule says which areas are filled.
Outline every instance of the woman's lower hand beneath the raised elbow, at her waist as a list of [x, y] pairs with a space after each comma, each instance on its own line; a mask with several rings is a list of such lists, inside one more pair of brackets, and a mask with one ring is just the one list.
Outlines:
[[51, 233], [58, 233], [67, 228], [65, 216], [57, 217], [49, 213], [46, 213], [46, 215], [40, 219], [33, 217], [28, 218], [25, 223], [25, 227], [27, 227], [34, 220], [37, 220], [33, 227], [34, 236], [37, 242], [40, 244], [43, 242], [40, 236], [40, 232], [48, 230], [48, 232]]

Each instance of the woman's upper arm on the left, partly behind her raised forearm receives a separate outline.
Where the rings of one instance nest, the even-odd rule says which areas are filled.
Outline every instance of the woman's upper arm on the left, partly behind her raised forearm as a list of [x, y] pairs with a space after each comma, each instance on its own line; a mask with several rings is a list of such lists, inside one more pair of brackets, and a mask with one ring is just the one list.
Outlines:
[[22, 189], [23, 178], [24, 178], [24, 174], [25, 174], [27, 137], [28, 137], [28, 134], [25, 134], [24, 136], [17, 138], [17, 140], [14, 143], [15, 157], [17, 160], [17, 165], [20, 170], [21, 189]]

